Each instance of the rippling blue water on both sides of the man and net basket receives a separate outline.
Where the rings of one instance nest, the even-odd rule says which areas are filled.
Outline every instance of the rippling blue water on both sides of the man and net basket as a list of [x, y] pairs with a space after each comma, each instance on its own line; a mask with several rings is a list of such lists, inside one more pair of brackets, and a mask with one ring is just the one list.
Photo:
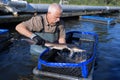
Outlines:
[[[99, 35], [93, 80], [120, 80], [120, 24], [109, 26], [70, 20], [66, 21], [65, 25], [66, 31], [77, 29]], [[29, 44], [14, 40], [8, 50], [0, 53], [0, 80], [33, 80], [32, 69], [35, 66], [37, 57], [30, 55]]]

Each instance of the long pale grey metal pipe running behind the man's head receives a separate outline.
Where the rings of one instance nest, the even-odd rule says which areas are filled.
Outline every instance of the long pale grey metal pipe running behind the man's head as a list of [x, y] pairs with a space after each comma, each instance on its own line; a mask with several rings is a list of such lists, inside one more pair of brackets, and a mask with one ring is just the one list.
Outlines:
[[[47, 12], [49, 4], [28, 4], [37, 12]], [[114, 11], [120, 10], [115, 6], [78, 6], [78, 5], [61, 5], [63, 12], [80, 12], [80, 11]], [[26, 10], [27, 11], [27, 10]]]

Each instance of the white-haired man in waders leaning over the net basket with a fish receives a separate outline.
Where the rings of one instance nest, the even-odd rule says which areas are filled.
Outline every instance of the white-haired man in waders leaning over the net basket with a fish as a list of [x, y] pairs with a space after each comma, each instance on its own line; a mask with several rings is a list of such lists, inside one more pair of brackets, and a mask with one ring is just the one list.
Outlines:
[[40, 54], [45, 50], [48, 43], [65, 44], [65, 29], [63, 21], [60, 20], [62, 8], [59, 4], [53, 3], [49, 6], [45, 15], [34, 16], [16, 26], [16, 30], [32, 39], [35, 44], [31, 45], [32, 54]]

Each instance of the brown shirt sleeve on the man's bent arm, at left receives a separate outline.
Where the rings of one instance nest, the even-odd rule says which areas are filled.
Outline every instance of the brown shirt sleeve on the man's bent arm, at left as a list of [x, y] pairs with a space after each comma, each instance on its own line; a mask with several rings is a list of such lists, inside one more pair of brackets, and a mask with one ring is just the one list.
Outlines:
[[30, 31], [40, 31], [43, 28], [42, 18], [40, 16], [34, 16], [31, 19], [22, 22], [22, 24]]

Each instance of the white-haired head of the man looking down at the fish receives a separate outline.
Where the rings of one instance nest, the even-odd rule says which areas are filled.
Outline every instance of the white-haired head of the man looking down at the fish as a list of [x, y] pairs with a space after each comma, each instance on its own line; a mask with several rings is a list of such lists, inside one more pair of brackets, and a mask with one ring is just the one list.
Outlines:
[[59, 4], [53, 3], [48, 8], [47, 20], [50, 25], [54, 25], [60, 20], [62, 8]]

